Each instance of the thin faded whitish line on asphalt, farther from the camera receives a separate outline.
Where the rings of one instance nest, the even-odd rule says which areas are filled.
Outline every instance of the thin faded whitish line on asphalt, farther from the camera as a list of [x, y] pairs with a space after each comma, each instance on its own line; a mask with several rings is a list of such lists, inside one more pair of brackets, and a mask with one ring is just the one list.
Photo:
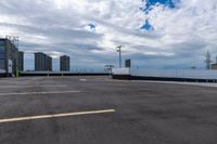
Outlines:
[[60, 93], [79, 93], [80, 91], [54, 91], [54, 92], [21, 92], [21, 93], [0, 93], [0, 96], [4, 95], [27, 95], [27, 94], [60, 94]]

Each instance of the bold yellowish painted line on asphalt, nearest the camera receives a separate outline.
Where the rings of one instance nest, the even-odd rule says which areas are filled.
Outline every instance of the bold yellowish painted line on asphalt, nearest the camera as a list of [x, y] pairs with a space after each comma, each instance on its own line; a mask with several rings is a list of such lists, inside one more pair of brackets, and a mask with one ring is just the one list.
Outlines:
[[71, 116], [79, 116], [79, 115], [106, 114], [106, 113], [115, 113], [115, 109], [104, 109], [104, 110], [91, 110], [91, 112], [77, 112], [77, 113], [63, 113], [63, 114], [51, 114], [51, 115], [41, 115], [41, 116], [17, 117], [17, 118], [0, 119], [0, 123], [3, 123], [3, 122], [15, 122], [15, 121], [26, 121], [26, 120], [36, 120], [36, 119], [71, 117]]

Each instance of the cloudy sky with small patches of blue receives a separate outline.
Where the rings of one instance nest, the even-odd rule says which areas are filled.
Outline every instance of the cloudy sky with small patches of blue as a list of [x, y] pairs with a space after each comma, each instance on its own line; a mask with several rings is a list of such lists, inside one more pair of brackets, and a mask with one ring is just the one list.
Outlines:
[[[131, 58], [140, 69], [205, 68], [217, 56], [217, 0], [1, 0], [0, 36], [20, 37], [25, 69], [34, 52], [72, 57], [72, 70]], [[124, 63], [123, 63], [124, 64]]]

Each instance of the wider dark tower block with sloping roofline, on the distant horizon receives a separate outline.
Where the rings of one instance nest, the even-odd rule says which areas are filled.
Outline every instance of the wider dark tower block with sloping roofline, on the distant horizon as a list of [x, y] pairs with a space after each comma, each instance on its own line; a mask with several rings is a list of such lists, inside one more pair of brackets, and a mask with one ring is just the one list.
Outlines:
[[52, 71], [52, 57], [42, 52], [35, 53], [35, 70]]

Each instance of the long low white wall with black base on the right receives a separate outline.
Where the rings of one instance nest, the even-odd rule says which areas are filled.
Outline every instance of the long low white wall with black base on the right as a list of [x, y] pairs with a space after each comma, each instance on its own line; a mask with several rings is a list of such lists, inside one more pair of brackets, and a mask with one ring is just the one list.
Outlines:
[[171, 69], [142, 70], [130, 68], [114, 68], [115, 79], [175, 80], [175, 81], [217, 81], [217, 70]]

